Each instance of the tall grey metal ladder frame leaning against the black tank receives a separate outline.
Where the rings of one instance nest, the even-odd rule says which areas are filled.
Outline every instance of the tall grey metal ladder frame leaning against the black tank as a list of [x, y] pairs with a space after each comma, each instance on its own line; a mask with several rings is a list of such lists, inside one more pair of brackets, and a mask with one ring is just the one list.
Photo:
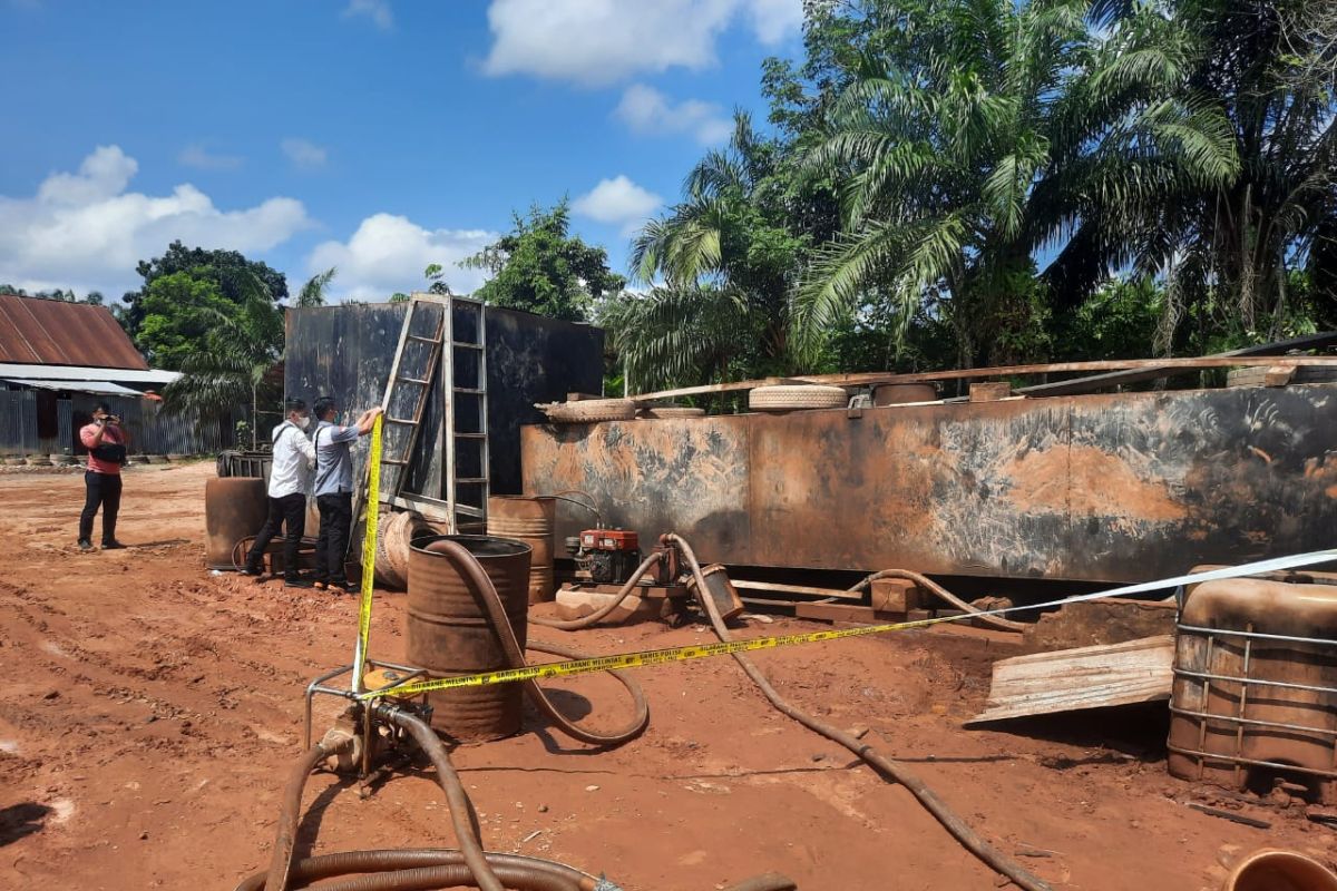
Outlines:
[[[416, 326], [427, 307], [440, 307], [431, 335]], [[421, 357], [425, 345], [427, 355]], [[448, 361], [441, 365], [445, 350]], [[417, 355], [414, 362], [410, 355]], [[420, 442], [422, 415], [437, 366], [441, 366], [441, 415], [445, 498], [405, 490], [413, 450]], [[412, 370], [405, 370], [413, 366]], [[401, 387], [410, 387], [412, 399], [400, 398]], [[412, 405], [408, 415], [396, 415], [396, 407]], [[417, 510], [428, 520], [443, 521], [452, 534], [483, 533], [487, 528], [487, 505], [491, 490], [488, 469], [488, 371], [487, 319], [481, 301], [436, 294], [414, 294], [404, 315], [400, 342], [381, 401], [385, 411], [385, 434], [381, 464], [381, 501], [408, 510]], [[393, 433], [402, 430], [404, 433]], [[358, 492], [353, 516], [360, 517], [366, 489]]]

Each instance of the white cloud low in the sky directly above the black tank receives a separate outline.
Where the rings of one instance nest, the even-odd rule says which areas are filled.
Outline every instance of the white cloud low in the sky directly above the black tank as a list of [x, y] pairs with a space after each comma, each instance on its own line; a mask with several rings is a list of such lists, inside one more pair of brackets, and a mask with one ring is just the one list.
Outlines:
[[376, 214], [364, 219], [346, 242], [317, 244], [306, 266], [313, 274], [337, 266], [330, 287], [340, 299], [385, 301], [396, 291], [427, 290], [422, 270], [429, 263], [443, 266], [453, 293], [471, 294], [487, 275], [456, 263], [497, 238], [497, 232], [479, 228], [427, 230], [406, 216]]

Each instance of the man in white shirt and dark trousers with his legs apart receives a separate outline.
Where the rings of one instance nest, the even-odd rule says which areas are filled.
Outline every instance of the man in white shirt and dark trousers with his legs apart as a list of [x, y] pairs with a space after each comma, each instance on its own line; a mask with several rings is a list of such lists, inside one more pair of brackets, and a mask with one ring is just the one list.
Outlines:
[[306, 532], [306, 492], [312, 485], [312, 468], [316, 466], [316, 446], [306, 435], [312, 426], [312, 414], [301, 399], [289, 399], [283, 407], [287, 417], [274, 427], [274, 460], [269, 472], [269, 516], [265, 526], [257, 533], [255, 544], [246, 554], [246, 568], [242, 574], [261, 574], [265, 549], [278, 534], [282, 525], [287, 533], [283, 540], [283, 585], [287, 588], [310, 588], [297, 569], [297, 548]]

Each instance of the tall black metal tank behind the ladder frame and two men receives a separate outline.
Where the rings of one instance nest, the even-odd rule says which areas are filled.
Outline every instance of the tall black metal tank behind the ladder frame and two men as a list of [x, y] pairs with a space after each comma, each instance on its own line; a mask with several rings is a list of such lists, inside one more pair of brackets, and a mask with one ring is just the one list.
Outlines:
[[[308, 403], [332, 395], [349, 413], [380, 405], [406, 311], [406, 303], [289, 310], [283, 357], [287, 395]], [[520, 425], [543, 419], [535, 402], [564, 399], [572, 391], [600, 391], [603, 331], [516, 310], [489, 306], [485, 313], [492, 492], [519, 494]], [[439, 371], [428, 395], [424, 442], [409, 472], [409, 489], [432, 497], [444, 494], [441, 405]], [[365, 449], [360, 460], [362, 454]]]

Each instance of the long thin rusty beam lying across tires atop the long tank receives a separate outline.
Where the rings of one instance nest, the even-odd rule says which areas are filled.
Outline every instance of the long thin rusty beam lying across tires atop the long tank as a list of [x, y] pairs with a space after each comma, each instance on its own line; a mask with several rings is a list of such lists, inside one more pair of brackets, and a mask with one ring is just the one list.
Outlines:
[[[810, 374], [797, 378], [785, 378], [793, 383], [828, 383], [832, 386], [868, 386], [872, 383], [928, 383], [931, 381], [968, 381], [972, 378], [1015, 377], [1023, 374], [1059, 374], [1071, 371], [1157, 371], [1155, 377], [1166, 377], [1162, 371], [1197, 371], [1202, 369], [1233, 369], [1250, 366], [1284, 366], [1284, 367], [1337, 367], [1337, 357], [1322, 355], [1284, 355], [1284, 357], [1185, 357], [1171, 359], [1092, 359], [1087, 362], [1047, 362], [1038, 365], [1001, 365], [980, 369], [952, 369], [947, 371], [920, 371], [910, 374], [896, 374], [892, 371], [869, 371], [858, 374]], [[655, 399], [673, 399], [683, 395], [705, 395], [710, 393], [737, 393], [751, 390], [767, 383], [779, 382], [778, 378], [769, 381], [731, 381], [729, 383], [706, 383], [702, 386], [678, 387], [674, 390], [659, 390], [655, 393], [639, 393], [628, 398], [636, 402], [652, 402]]]

